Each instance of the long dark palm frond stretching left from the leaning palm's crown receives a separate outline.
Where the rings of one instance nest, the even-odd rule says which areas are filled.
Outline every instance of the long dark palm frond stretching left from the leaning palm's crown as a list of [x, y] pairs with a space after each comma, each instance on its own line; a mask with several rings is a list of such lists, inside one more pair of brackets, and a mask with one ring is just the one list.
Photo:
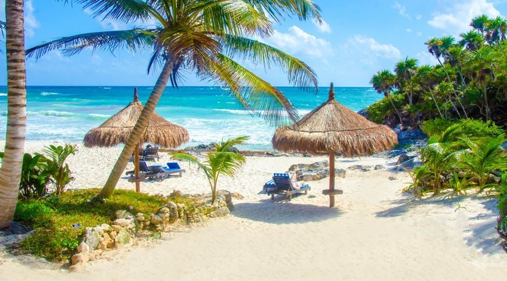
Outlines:
[[150, 46], [155, 36], [150, 32], [134, 28], [130, 30], [115, 30], [84, 33], [73, 36], [62, 37], [25, 51], [26, 56], [35, 56], [39, 59], [43, 55], [53, 50], [63, 50], [65, 56], [75, 55], [86, 48], [92, 48], [93, 51], [105, 50], [114, 52], [115, 50], [128, 48], [132, 52], [138, 49]]

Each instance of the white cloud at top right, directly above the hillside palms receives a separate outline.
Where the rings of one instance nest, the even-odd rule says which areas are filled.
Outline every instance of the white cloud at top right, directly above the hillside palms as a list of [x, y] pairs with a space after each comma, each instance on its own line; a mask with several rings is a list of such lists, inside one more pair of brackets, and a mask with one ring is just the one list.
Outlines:
[[434, 13], [428, 24], [451, 33], [459, 33], [469, 30], [470, 20], [476, 16], [486, 14], [496, 17], [500, 14], [488, 0], [461, 1], [454, 7], [450, 7], [448, 11], [448, 13]]

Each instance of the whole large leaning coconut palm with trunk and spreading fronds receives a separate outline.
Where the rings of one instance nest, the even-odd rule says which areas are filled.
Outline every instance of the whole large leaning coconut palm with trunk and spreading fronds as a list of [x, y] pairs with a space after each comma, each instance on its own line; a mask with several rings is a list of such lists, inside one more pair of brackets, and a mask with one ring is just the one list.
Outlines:
[[161, 66], [153, 91], [125, 143], [100, 197], [107, 197], [122, 175], [130, 155], [148, 124], [166, 84], [177, 87], [180, 70], [197, 73], [231, 89], [237, 101], [248, 110], [260, 110], [270, 124], [295, 121], [297, 110], [283, 93], [234, 58], [248, 59], [269, 68], [276, 65], [287, 72], [291, 84], [317, 89], [313, 70], [304, 62], [276, 48], [261, 43], [258, 36], [270, 36], [273, 24], [285, 15], [300, 20], [321, 22], [320, 8], [310, 0], [76, 0], [104, 19], [134, 22], [156, 21], [156, 27], [103, 31], [62, 37], [27, 50], [28, 56], [39, 58], [52, 50], [73, 55], [83, 49], [115, 51], [128, 48], [132, 52], [151, 49], [148, 72]]

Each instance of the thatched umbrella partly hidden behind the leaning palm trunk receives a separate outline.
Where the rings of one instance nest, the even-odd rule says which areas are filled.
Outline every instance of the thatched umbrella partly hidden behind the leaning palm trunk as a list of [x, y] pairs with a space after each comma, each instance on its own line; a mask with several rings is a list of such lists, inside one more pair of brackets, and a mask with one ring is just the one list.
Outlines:
[[[90, 130], [85, 135], [85, 146], [115, 146], [127, 142], [143, 107], [139, 102], [137, 89], [134, 88], [134, 101], [108, 118], [99, 127]], [[139, 192], [139, 182], [144, 180], [144, 178], [139, 178], [139, 146], [142, 143], [150, 142], [161, 147], [177, 147], [188, 141], [189, 133], [185, 128], [174, 125], [153, 112], [144, 137], [141, 138], [134, 151], [135, 175], [132, 181], [135, 182], [135, 190]]]

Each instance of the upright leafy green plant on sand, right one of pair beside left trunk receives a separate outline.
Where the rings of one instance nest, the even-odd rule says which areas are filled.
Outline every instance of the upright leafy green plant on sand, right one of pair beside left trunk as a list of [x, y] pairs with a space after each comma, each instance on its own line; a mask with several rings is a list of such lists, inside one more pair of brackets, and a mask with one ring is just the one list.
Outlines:
[[65, 164], [65, 160], [70, 154], [76, 154], [78, 149], [76, 145], [66, 143], [65, 146], [46, 146], [43, 151], [48, 154], [45, 162], [46, 173], [50, 176], [55, 193], [61, 194], [65, 191], [65, 187], [75, 179], [71, 176], [72, 172], [68, 164]]

